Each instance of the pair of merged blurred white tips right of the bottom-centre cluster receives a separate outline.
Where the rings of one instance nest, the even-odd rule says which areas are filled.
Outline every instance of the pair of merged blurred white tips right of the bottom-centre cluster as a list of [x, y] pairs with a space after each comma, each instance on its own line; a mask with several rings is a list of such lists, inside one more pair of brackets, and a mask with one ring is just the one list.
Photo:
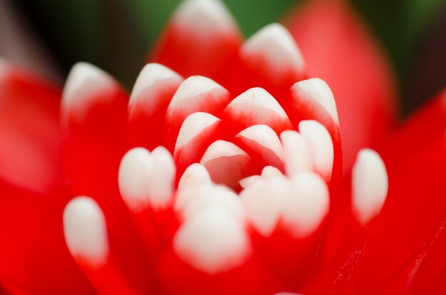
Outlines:
[[240, 193], [256, 231], [269, 237], [282, 222], [292, 237], [312, 234], [328, 213], [326, 182], [313, 172], [292, 177], [271, 170], [263, 174]]

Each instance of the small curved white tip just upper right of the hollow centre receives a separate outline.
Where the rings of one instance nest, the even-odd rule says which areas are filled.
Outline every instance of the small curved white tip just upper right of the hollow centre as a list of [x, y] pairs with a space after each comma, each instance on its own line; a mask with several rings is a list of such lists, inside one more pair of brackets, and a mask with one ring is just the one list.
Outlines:
[[239, 133], [244, 138], [254, 140], [259, 145], [272, 150], [280, 160], [283, 159], [284, 149], [274, 130], [268, 125], [253, 125]]

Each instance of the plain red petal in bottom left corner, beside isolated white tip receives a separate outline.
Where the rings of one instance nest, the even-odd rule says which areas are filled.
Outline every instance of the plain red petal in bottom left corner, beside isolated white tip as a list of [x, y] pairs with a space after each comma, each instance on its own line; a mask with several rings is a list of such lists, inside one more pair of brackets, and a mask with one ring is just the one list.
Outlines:
[[2, 180], [0, 192], [4, 287], [13, 294], [94, 294], [63, 239], [66, 200], [35, 195]]

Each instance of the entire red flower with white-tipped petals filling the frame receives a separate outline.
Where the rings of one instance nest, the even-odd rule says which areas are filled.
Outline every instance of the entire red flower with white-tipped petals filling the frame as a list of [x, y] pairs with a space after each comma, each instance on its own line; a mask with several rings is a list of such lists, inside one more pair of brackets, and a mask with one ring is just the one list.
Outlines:
[[242, 43], [185, 1], [130, 95], [88, 63], [61, 93], [1, 61], [4, 291], [442, 294], [446, 94], [393, 130], [346, 4], [289, 27], [306, 61], [279, 24]]

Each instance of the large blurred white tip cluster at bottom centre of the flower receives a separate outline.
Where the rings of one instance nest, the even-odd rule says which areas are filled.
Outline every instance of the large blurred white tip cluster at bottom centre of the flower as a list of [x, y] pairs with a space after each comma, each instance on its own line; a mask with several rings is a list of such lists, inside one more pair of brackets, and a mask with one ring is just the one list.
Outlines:
[[205, 171], [199, 164], [188, 169], [187, 179], [198, 181], [183, 182], [177, 192], [175, 210], [182, 216], [182, 226], [173, 246], [188, 264], [216, 274], [243, 264], [251, 245], [239, 197], [208, 181]]

